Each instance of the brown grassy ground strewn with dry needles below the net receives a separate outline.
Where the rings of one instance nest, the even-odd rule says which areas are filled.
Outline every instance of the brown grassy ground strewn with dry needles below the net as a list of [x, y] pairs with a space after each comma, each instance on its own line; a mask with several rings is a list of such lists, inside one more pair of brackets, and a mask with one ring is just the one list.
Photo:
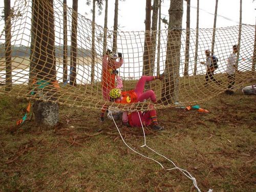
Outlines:
[[[201, 103], [209, 114], [159, 110], [165, 131], [146, 128], [146, 143], [188, 170], [202, 191], [255, 191], [255, 102], [237, 91]], [[27, 103], [0, 98], [0, 191], [196, 191], [178, 170], [129, 150], [112, 120], [98, 121], [98, 111], [61, 105], [54, 130], [39, 130], [32, 118], [13, 132]], [[132, 148], [173, 167], [140, 147], [141, 129], [117, 125]]]

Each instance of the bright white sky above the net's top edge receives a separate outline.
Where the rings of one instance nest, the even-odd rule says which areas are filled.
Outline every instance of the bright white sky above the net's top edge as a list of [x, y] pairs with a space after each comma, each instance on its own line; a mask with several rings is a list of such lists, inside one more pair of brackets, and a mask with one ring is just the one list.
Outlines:
[[[1, 0], [3, 1], [3, 0]], [[87, 17], [92, 19], [90, 13], [91, 6], [85, 5], [86, 0], [78, 0], [78, 13], [88, 14]], [[168, 19], [169, 0], [164, 0], [161, 7], [162, 18]], [[186, 2], [184, 3], [182, 26], [186, 26]], [[199, 28], [212, 28], [214, 23], [215, 0], [200, 0], [199, 2]], [[69, 7], [72, 7], [72, 0], [67, 0]], [[143, 31], [145, 29], [145, 0], [125, 0], [119, 1], [118, 23], [120, 31]], [[152, 1], [153, 5], [153, 1]], [[103, 5], [104, 8], [105, 5]], [[190, 8], [190, 28], [196, 28], [197, 1], [191, 0]], [[243, 0], [242, 4], [242, 23], [255, 25], [256, 1]], [[115, 0], [109, 0], [108, 9], [108, 28], [113, 30], [114, 24]], [[217, 17], [217, 28], [234, 26], [239, 24], [240, 0], [219, 0]], [[223, 17], [227, 17], [225, 19]], [[230, 19], [230, 20], [229, 20]], [[104, 26], [104, 10], [101, 15], [97, 15], [96, 23]], [[162, 29], [164, 25], [162, 24]]]

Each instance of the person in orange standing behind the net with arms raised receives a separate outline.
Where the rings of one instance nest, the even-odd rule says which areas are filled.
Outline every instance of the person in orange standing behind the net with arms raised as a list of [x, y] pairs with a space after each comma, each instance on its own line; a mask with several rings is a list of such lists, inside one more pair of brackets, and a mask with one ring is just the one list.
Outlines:
[[[116, 75], [118, 74], [117, 69], [123, 65], [122, 53], [117, 53], [119, 61], [117, 61], [117, 55], [113, 53], [111, 50], [107, 49], [105, 55], [102, 59], [102, 76], [101, 76], [101, 84], [102, 84], [102, 96], [104, 100], [109, 101], [110, 96], [109, 92], [113, 88], [115, 88], [115, 80]], [[104, 114], [106, 109], [108, 109], [108, 105], [103, 105], [100, 113], [100, 121], [104, 120]]]

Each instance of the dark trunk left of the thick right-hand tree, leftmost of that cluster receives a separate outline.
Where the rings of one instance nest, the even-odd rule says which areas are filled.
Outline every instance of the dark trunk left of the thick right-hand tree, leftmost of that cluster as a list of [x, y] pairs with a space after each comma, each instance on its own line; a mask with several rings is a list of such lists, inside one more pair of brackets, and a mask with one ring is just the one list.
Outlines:
[[143, 53], [143, 75], [150, 75], [151, 48], [151, 0], [146, 0], [145, 40]]

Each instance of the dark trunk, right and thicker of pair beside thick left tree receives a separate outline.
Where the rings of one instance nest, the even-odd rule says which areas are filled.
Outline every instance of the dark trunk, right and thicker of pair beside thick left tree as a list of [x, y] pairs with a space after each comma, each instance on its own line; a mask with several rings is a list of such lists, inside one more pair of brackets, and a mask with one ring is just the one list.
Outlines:
[[72, 27], [71, 27], [71, 59], [70, 59], [70, 85], [76, 86], [76, 60], [77, 60], [77, 4], [78, 0], [73, 0]]

